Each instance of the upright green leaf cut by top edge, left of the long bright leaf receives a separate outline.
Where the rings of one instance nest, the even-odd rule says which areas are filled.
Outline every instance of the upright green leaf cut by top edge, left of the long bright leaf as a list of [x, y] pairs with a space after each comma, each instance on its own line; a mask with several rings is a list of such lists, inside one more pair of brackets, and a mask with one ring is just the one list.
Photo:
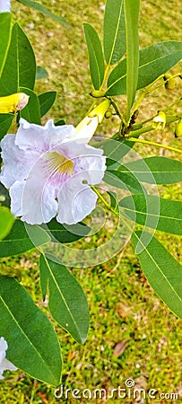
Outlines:
[[126, 52], [123, 0], [107, 0], [104, 13], [104, 55], [114, 65]]

